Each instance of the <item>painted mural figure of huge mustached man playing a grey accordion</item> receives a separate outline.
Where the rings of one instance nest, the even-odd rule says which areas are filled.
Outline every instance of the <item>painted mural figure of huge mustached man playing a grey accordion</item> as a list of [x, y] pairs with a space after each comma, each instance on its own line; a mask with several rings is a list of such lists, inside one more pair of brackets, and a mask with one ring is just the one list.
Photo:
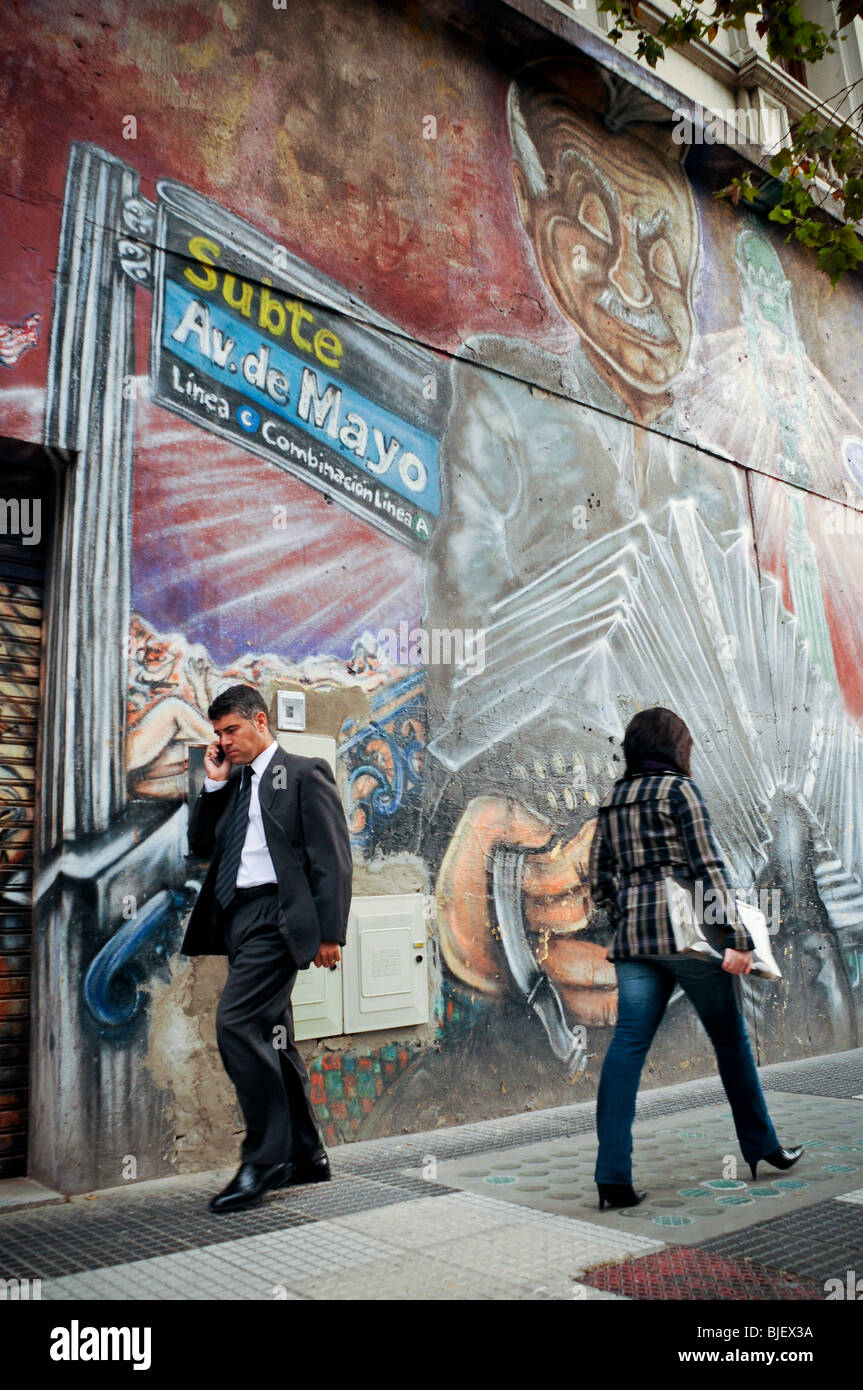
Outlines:
[[[741, 328], [692, 352], [695, 197], [661, 129], [643, 124], [643, 100], [603, 85], [586, 107], [584, 68], [552, 63], [509, 92], [521, 221], [578, 346], [566, 359], [534, 352], [529, 382], [516, 379], [524, 345], [511, 339], [470, 342], [471, 364], [453, 367], [428, 613], [484, 628], [486, 664], [472, 678], [429, 673], [429, 826], [453, 824], [438, 874], [443, 954], [466, 990], [535, 1001], [564, 1062], [567, 1023], [592, 1038], [613, 1023], [607, 937], [586, 888], [593, 808], [621, 771], [625, 723], [661, 703], [693, 731], [731, 881], [777, 906], [784, 988], [816, 999], [848, 1044], [860, 1009], [862, 745], [802, 489], [835, 481], [860, 425], [807, 361], [791, 285], [755, 225], [735, 246]], [[759, 578], [746, 477], [717, 453], [769, 457], [794, 482], [771, 556], [785, 592]], [[855, 559], [852, 543], [842, 588]], [[855, 621], [842, 645], [859, 639]], [[524, 941], [548, 984], [523, 963]], [[745, 994], [769, 1049], [785, 1009], [757, 984]]]

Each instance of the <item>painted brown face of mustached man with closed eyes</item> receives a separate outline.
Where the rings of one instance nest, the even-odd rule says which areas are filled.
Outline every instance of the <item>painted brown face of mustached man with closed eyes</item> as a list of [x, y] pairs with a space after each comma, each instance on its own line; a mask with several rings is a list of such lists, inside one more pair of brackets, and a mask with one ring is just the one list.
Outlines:
[[527, 195], [546, 284], [611, 385], [663, 392], [693, 334], [698, 222], [685, 175], [574, 113], [552, 142], [556, 192]]

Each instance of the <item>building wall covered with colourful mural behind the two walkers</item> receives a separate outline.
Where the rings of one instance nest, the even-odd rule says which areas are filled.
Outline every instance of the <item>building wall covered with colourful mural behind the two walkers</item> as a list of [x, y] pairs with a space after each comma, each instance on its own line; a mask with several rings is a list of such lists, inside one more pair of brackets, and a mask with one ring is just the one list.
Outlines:
[[[766, 125], [705, 115], [781, 138], [859, 35], [832, 75], [749, 31], [657, 75], [603, 26], [6, 25], [0, 1176], [236, 1154], [225, 960], [178, 951], [236, 681], [352, 828], [345, 966], [296, 995], [328, 1143], [595, 1093], [586, 865], [655, 703], [774, 931], [759, 1061], [859, 1042], [863, 297], [714, 197]], [[646, 1084], [712, 1069], [674, 998]]]

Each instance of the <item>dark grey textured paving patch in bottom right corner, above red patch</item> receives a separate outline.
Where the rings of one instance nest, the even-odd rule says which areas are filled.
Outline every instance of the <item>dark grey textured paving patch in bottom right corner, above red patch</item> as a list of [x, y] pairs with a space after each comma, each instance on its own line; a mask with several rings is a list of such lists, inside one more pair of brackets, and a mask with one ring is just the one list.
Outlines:
[[746, 1257], [819, 1280], [823, 1298], [825, 1279], [844, 1280], [849, 1269], [863, 1276], [863, 1207], [819, 1202], [699, 1244], [717, 1255]]

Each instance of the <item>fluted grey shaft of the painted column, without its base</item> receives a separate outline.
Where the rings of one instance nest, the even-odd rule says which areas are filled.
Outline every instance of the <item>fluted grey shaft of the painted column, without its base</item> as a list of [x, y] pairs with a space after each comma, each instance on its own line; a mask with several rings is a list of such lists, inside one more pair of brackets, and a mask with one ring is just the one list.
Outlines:
[[49, 609], [42, 852], [107, 830], [125, 806], [132, 545], [135, 284], [117, 249], [135, 170], [72, 145], [46, 389], [44, 441], [67, 449]]

